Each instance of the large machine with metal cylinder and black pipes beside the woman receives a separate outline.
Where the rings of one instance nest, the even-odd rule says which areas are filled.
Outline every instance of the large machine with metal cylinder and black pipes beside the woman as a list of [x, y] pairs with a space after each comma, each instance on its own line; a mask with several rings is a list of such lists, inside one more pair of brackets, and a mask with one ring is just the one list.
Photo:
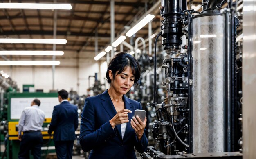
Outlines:
[[202, 157], [242, 158], [234, 152], [240, 149], [241, 137], [236, 2], [203, 0], [200, 13], [187, 10], [186, 0], [161, 0], [159, 9], [163, 19], [155, 48], [161, 35], [167, 53], [162, 64], [166, 96], [156, 103], [155, 65], [152, 107], [157, 120], [152, 132], [160, 149], [148, 147], [141, 158], [196, 158], [202, 153], [207, 153]]

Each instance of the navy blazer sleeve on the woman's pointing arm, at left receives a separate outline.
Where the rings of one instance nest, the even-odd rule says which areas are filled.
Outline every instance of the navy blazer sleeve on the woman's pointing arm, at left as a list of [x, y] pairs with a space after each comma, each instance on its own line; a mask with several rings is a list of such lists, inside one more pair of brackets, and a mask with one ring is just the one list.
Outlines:
[[99, 129], [95, 128], [95, 110], [90, 98], [85, 99], [85, 105], [81, 114], [81, 130], [80, 130], [80, 144], [84, 152], [92, 150], [105, 139], [109, 139], [115, 135], [115, 131], [112, 129], [110, 122], [106, 122], [101, 125]]

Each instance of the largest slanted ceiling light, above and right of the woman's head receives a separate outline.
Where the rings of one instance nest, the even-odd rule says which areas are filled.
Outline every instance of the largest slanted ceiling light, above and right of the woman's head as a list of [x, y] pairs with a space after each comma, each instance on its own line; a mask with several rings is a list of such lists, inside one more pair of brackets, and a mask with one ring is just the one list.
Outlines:
[[131, 37], [133, 34], [135, 34], [137, 31], [139, 31], [141, 28], [143, 28], [143, 26], [145, 26], [146, 24], [148, 24], [148, 22], [150, 22], [151, 20], [153, 20], [154, 17], [155, 17], [155, 15], [151, 15], [151, 14], [146, 15], [146, 17], [144, 17], [140, 22], [138, 22], [135, 26], [133, 26], [133, 27], [126, 33], [126, 36]]

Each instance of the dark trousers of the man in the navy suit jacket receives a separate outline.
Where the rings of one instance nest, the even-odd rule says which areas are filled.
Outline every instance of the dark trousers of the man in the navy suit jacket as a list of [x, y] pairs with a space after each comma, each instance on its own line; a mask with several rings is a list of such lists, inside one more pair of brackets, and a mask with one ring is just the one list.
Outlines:
[[74, 140], [54, 141], [58, 159], [72, 159]]

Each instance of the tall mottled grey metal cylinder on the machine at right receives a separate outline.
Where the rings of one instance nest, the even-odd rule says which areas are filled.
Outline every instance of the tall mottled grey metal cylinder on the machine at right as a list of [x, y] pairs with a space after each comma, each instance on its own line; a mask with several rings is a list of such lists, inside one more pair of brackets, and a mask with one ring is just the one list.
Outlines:
[[193, 153], [223, 152], [223, 16], [193, 19]]

